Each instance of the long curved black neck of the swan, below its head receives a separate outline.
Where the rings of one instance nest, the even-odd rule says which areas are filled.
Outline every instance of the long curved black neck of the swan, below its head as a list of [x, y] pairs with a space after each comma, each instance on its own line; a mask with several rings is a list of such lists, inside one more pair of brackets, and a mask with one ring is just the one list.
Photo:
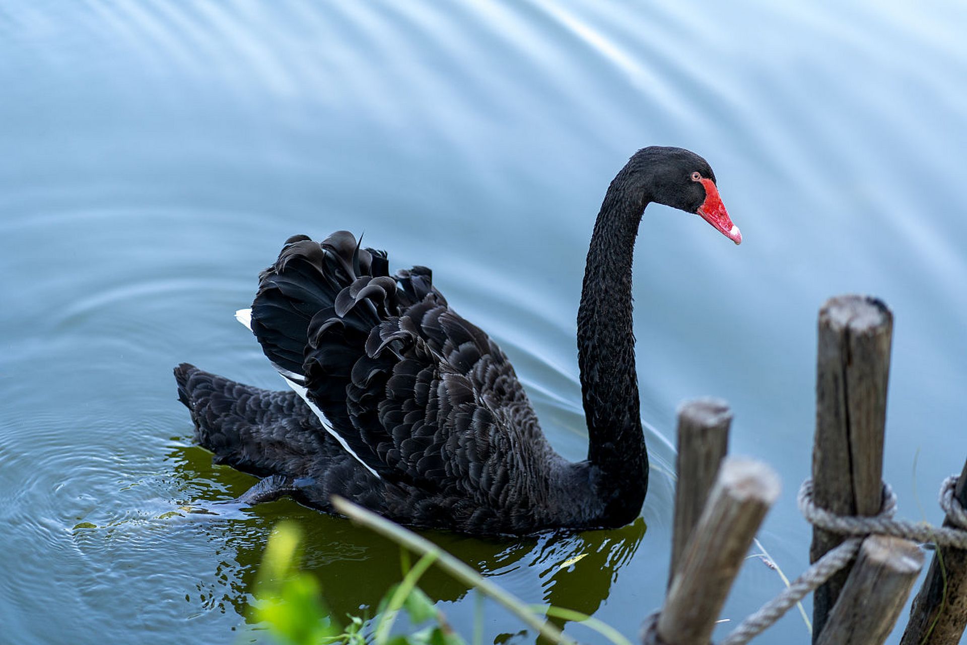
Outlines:
[[631, 260], [648, 202], [625, 177], [615, 178], [601, 204], [577, 311], [588, 461], [603, 513], [621, 523], [637, 516], [648, 488], [631, 326]]

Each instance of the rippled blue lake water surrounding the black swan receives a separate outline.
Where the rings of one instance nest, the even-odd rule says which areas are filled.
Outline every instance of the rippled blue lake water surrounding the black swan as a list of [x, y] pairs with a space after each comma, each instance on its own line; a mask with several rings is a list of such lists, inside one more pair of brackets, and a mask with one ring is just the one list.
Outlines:
[[[371, 613], [398, 579], [396, 547], [289, 501], [179, 511], [254, 480], [191, 446], [171, 367], [282, 387], [232, 312], [294, 233], [365, 232], [432, 267], [583, 458], [584, 256], [608, 182], [651, 144], [711, 162], [745, 242], [660, 206], [642, 221], [643, 520], [431, 537], [633, 639], [664, 594], [675, 410], [714, 395], [732, 453], [782, 477], [760, 540], [798, 574], [816, 311], [845, 292], [894, 310], [885, 477], [900, 513], [939, 522], [967, 455], [965, 24], [932, 0], [0, 5], [0, 640], [258, 640], [249, 584], [281, 518], [337, 611]], [[424, 587], [470, 634], [474, 594]], [[723, 618], [781, 588], [748, 560]], [[534, 642], [521, 630], [485, 606], [484, 642]], [[794, 611], [757, 642], [807, 638]]]

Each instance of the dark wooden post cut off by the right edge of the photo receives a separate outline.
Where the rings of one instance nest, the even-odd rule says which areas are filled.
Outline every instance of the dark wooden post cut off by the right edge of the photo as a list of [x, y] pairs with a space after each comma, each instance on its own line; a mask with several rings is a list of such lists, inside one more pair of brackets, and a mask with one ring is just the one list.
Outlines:
[[[953, 496], [967, 508], [967, 463], [960, 471]], [[967, 528], [954, 524], [950, 516], [944, 519], [944, 526]], [[910, 608], [910, 623], [903, 632], [900, 645], [956, 643], [960, 641], [964, 626], [967, 626], [967, 551], [938, 547], [923, 587]]]

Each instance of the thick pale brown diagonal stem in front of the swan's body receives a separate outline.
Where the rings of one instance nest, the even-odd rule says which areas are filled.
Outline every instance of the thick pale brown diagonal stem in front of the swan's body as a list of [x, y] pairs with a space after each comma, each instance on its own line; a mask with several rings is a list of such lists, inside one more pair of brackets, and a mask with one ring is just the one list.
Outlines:
[[437, 557], [437, 564], [443, 569], [449, 572], [460, 582], [476, 588], [483, 592], [485, 595], [492, 598], [494, 601], [500, 602], [504, 607], [513, 613], [514, 616], [519, 618], [528, 626], [534, 628], [541, 632], [542, 636], [548, 638], [555, 643], [565, 643], [566, 645], [576, 645], [574, 641], [565, 636], [561, 630], [558, 630], [553, 625], [549, 623], [542, 622], [533, 613], [527, 610], [527, 605], [523, 601], [518, 599], [513, 594], [504, 591], [496, 584], [490, 582], [480, 573], [475, 572], [473, 569], [460, 562], [450, 553], [447, 553], [439, 546], [433, 542], [421, 538], [412, 531], [407, 531], [403, 527], [391, 522], [390, 520], [380, 517], [376, 513], [371, 513], [366, 511], [366, 509], [353, 504], [352, 502], [338, 497], [333, 496], [333, 506], [339, 513], [342, 513], [352, 519], [353, 521], [366, 526], [366, 528], [372, 529], [376, 533], [389, 538], [390, 540], [403, 544], [407, 548], [410, 548], [417, 553], [435, 553]]

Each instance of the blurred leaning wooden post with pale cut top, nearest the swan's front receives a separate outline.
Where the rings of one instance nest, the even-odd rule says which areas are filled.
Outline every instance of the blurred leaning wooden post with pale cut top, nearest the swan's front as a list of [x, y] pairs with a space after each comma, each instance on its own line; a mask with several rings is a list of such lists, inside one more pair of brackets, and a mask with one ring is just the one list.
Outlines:
[[708, 645], [748, 547], [779, 494], [766, 464], [726, 457], [658, 619], [658, 642]]

